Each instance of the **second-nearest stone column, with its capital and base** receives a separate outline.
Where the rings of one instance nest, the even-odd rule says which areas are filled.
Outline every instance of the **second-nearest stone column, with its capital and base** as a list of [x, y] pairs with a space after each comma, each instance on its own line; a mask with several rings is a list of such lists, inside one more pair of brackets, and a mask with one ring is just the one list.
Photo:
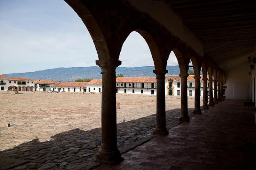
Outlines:
[[166, 129], [165, 118], [165, 88], [164, 75], [167, 70], [153, 70], [156, 74], [156, 130], [154, 135], [168, 135], [169, 131]]

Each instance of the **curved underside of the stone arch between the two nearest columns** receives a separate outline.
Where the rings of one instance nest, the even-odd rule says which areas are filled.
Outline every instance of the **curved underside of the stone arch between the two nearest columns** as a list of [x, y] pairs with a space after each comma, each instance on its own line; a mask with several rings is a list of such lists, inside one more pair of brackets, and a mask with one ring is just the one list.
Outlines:
[[[148, 47], [149, 47], [149, 50], [150, 50], [150, 53], [151, 53], [151, 56], [153, 58], [153, 62], [155, 65], [155, 69], [156, 70], [164, 70], [165, 67], [162, 63], [161, 55], [160, 55], [158, 46], [156, 44], [156, 41], [153, 39], [153, 37], [147, 31], [144, 31], [142, 29], [135, 29], [134, 31], [138, 32], [143, 37], [143, 39], [146, 41], [146, 43], [148, 44]], [[130, 32], [129, 35], [132, 32]], [[125, 38], [125, 40], [127, 39], [127, 37]], [[125, 42], [125, 40], [124, 40], [124, 42]], [[123, 42], [123, 44], [124, 44], [124, 42]], [[121, 52], [121, 50], [120, 50], [120, 52]]]

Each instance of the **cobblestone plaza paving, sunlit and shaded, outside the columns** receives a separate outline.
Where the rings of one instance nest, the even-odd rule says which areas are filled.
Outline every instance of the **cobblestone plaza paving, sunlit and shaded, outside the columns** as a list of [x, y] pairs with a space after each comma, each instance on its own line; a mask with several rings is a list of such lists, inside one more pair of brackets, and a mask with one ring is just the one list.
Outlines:
[[[23, 92], [0, 98], [0, 157], [30, 161], [14, 169], [99, 165], [93, 159], [101, 143], [100, 94]], [[156, 96], [117, 94], [117, 101], [117, 144], [124, 153], [154, 137]], [[194, 98], [188, 107], [193, 116]], [[166, 97], [166, 110], [169, 129], [179, 124], [180, 98]]]

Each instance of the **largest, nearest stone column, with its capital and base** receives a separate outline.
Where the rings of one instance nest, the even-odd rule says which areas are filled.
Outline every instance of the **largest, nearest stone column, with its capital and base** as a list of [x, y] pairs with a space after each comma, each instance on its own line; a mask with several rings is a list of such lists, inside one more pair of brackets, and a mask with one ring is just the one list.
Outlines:
[[115, 164], [122, 160], [117, 149], [116, 137], [116, 67], [121, 61], [110, 63], [108, 60], [97, 60], [101, 68], [101, 148], [95, 156], [99, 162]]

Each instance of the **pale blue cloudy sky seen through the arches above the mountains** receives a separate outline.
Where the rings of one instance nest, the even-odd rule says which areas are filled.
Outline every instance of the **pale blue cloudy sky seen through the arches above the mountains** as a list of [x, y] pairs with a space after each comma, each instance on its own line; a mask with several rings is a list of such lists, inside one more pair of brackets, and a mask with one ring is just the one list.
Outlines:
[[[0, 37], [0, 74], [96, 66], [92, 38], [63, 0], [0, 0]], [[153, 65], [137, 32], [124, 42], [119, 60], [123, 67]], [[178, 65], [173, 53], [168, 65]]]

